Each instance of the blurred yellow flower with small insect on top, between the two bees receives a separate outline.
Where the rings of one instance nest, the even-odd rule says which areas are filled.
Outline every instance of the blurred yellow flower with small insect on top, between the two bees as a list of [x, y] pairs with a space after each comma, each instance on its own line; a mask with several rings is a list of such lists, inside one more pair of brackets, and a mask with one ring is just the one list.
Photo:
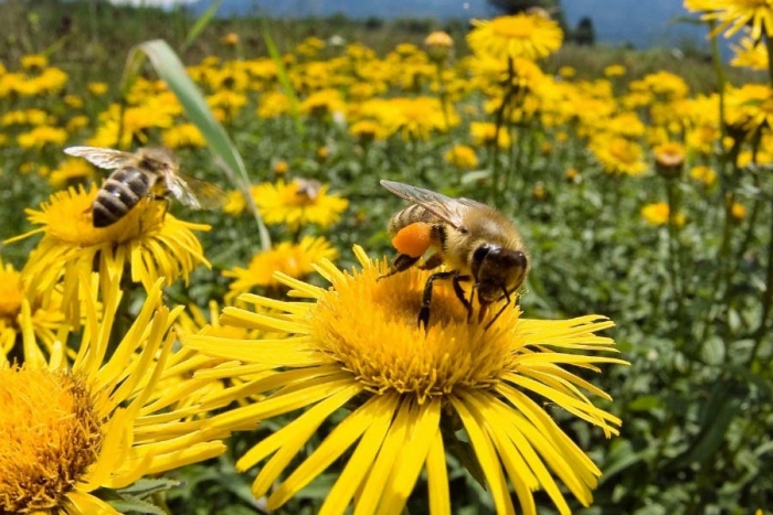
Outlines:
[[349, 201], [328, 194], [328, 185], [310, 189], [300, 181], [276, 184], [263, 183], [253, 187], [253, 197], [266, 224], [286, 224], [292, 232], [307, 224], [327, 228], [338, 222]]

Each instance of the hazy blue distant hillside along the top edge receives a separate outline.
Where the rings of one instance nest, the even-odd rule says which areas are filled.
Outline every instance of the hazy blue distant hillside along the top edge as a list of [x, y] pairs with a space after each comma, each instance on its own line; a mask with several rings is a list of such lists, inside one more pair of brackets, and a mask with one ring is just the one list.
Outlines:
[[[202, 12], [211, 0], [190, 4]], [[679, 0], [563, 0], [566, 21], [575, 26], [590, 17], [601, 43], [636, 47], [676, 45], [690, 40], [699, 45], [706, 41], [706, 30], [685, 23], [673, 23], [688, 13]], [[496, 14], [485, 0], [224, 0], [222, 17], [268, 14], [282, 18], [329, 17], [345, 14], [352, 19], [367, 18], [490, 18]]]

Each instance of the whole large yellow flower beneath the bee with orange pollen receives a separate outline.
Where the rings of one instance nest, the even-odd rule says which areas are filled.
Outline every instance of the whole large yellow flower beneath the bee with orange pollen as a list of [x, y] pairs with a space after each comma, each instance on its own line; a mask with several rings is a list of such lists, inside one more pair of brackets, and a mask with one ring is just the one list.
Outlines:
[[[361, 248], [354, 251], [361, 270], [343, 272], [329, 261], [317, 266], [331, 287], [278, 277], [293, 288], [290, 297], [306, 302], [247, 294], [241, 300], [271, 312], [224, 310], [224, 325], [288, 331], [288, 337], [183, 339], [184, 346], [203, 354], [244, 363], [245, 374], [256, 365], [271, 368], [250, 387], [271, 395], [213, 417], [213, 427], [297, 414], [236, 463], [247, 470], [266, 460], [253, 494], [268, 494], [268, 509], [276, 509], [333, 461], [343, 460], [320, 513], [343, 513], [352, 503], [354, 513], [402, 513], [422, 469], [428, 512], [451, 513], [444, 442], [456, 438], [447, 429], [456, 421], [498, 513], [513, 512], [508, 480], [525, 513], [534, 513], [537, 490], [561, 513], [569, 512], [564, 495], [570, 492], [590, 505], [601, 471], [543, 405], [566, 409], [606, 436], [617, 433], [621, 421], [589, 398], [608, 396], [568, 369], [625, 364], [591, 354], [614, 352], [611, 339], [595, 334], [613, 323], [597, 315], [527, 320], [518, 309], [508, 309], [485, 330], [486, 320], [473, 316], [468, 322], [447, 285], [435, 292], [434, 322], [425, 330], [416, 325], [416, 313], [430, 272], [411, 268], [379, 280], [389, 269], [386, 260], [373, 262]], [[230, 372], [237, 377], [239, 369]], [[308, 409], [298, 412], [304, 407]], [[319, 443], [309, 441], [333, 414], [335, 429]], [[293, 462], [308, 446], [314, 446], [311, 454]]]

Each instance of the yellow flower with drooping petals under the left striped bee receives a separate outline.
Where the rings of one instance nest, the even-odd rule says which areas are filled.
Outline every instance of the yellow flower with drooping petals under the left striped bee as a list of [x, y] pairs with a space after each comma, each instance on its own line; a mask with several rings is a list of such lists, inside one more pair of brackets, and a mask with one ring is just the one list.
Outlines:
[[149, 289], [160, 277], [171, 283], [200, 264], [210, 267], [201, 243], [192, 230], [209, 230], [209, 225], [191, 224], [166, 213], [167, 205], [141, 200], [126, 216], [104, 228], [94, 227], [92, 204], [97, 186], [80, 186], [51, 195], [41, 211], [27, 210], [29, 221], [41, 227], [6, 243], [43, 233], [24, 267], [33, 294], [45, 296], [61, 282], [63, 305], [71, 323], [80, 321], [78, 299], [86, 294], [83, 273], [96, 269], [104, 288], [119, 285], [124, 268], [130, 280]]

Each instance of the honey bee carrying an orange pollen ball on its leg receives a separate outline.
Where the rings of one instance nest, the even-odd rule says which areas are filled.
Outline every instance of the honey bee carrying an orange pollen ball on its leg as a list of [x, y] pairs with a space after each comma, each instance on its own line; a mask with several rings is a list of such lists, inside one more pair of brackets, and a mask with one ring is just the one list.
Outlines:
[[[427, 278], [419, 325], [428, 325], [434, 281], [451, 279], [456, 297], [467, 309], [467, 320], [473, 315], [476, 294], [479, 323], [493, 302], [505, 300], [486, 325], [488, 329], [512, 302], [512, 294], [529, 271], [529, 257], [518, 228], [504, 214], [476, 201], [451, 199], [400, 182], [381, 181], [381, 185], [412, 205], [389, 223], [392, 245], [400, 254], [380, 279], [407, 270], [432, 247], [434, 253], [420, 268], [433, 270], [445, 264], [446, 270]], [[462, 288], [467, 281], [473, 282], [469, 299]]]

